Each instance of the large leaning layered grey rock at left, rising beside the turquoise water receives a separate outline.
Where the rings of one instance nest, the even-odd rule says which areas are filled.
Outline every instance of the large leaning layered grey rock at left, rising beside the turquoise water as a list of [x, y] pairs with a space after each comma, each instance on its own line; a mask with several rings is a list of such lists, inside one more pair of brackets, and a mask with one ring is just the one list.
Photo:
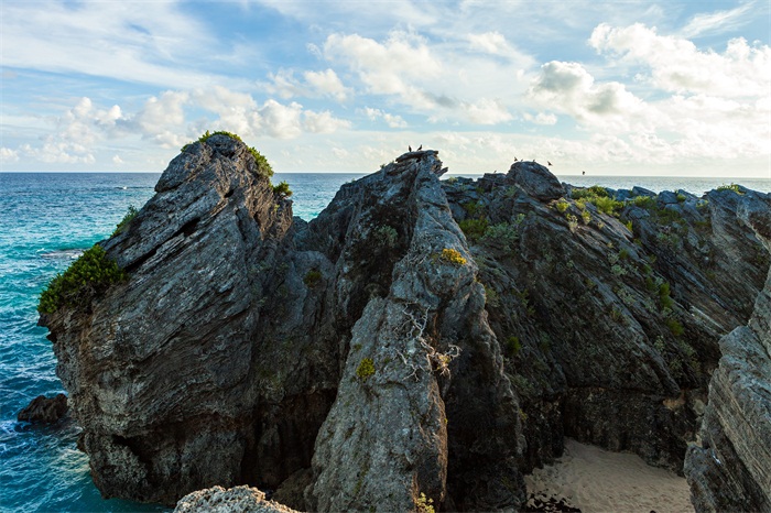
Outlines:
[[252, 427], [256, 302], [291, 206], [225, 135], [170, 164], [104, 243], [131, 280], [43, 320], [106, 496], [174, 503], [241, 480]]

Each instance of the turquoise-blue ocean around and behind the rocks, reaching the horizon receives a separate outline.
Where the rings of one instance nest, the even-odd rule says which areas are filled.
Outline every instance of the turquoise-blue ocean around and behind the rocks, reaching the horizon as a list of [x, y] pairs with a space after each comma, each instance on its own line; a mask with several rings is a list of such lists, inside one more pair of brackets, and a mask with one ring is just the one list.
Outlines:
[[[340, 185], [362, 174], [276, 173], [293, 190], [294, 214], [313, 219]], [[453, 175], [448, 175], [453, 176]], [[470, 176], [470, 175], [466, 175]], [[47, 330], [36, 326], [40, 291], [79, 253], [112, 232], [129, 206], [153, 195], [160, 173], [0, 173], [0, 511], [164, 511], [102, 500], [72, 422], [17, 422], [37, 395], [63, 392]], [[447, 176], [445, 176], [446, 178]], [[771, 179], [564, 176], [575, 185], [702, 193], [731, 182], [771, 192]]]

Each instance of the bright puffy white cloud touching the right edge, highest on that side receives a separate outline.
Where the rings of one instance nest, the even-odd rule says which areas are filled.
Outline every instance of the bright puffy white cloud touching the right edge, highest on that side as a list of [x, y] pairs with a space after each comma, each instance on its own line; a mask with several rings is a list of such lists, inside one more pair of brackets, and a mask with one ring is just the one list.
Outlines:
[[708, 94], [723, 97], [767, 96], [771, 83], [771, 47], [750, 46], [732, 39], [726, 51], [699, 51], [691, 41], [659, 35], [640, 23], [616, 29], [598, 25], [589, 44], [622, 63], [641, 65], [640, 74], [654, 87], [673, 92]]

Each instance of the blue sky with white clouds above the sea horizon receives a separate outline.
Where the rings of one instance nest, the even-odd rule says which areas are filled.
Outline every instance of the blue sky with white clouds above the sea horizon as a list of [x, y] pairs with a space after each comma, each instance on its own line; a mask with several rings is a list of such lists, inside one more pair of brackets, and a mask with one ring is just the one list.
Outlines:
[[227, 130], [276, 172], [771, 178], [770, 40], [769, 0], [0, 0], [0, 171]]

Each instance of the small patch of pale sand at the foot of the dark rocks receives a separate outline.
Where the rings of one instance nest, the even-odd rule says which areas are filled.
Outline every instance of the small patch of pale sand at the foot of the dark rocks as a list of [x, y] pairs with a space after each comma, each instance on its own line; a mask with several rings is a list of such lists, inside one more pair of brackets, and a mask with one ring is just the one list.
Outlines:
[[529, 509], [545, 507], [535, 501], [562, 500], [563, 505], [584, 513], [595, 512], [693, 512], [689, 490], [674, 472], [645, 465], [631, 454], [610, 452], [565, 439], [565, 455], [555, 465], [525, 476]]

